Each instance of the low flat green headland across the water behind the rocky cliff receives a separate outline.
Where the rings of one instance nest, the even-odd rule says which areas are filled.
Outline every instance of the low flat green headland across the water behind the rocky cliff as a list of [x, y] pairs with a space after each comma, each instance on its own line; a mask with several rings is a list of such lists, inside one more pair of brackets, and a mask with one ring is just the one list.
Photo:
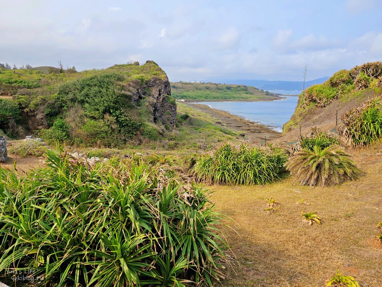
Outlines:
[[275, 94], [244, 85], [217, 83], [171, 83], [171, 94], [176, 99], [228, 100], [228, 99], [272, 99]]

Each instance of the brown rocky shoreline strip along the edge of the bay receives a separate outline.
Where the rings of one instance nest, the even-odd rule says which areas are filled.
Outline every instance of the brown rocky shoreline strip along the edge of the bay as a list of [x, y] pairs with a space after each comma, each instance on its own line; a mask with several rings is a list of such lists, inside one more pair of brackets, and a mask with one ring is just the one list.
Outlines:
[[275, 130], [270, 129], [269, 127], [259, 124], [257, 122], [247, 121], [242, 117], [235, 116], [225, 111], [220, 111], [218, 109], [210, 108], [204, 104], [191, 104], [187, 103], [187, 105], [196, 108], [203, 113], [209, 114], [216, 121], [216, 124], [220, 124], [224, 127], [227, 127], [235, 132], [244, 132], [244, 139], [249, 140], [249, 142], [254, 144], [264, 144], [265, 139], [272, 140], [277, 139], [281, 136], [280, 132], [276, 132]]

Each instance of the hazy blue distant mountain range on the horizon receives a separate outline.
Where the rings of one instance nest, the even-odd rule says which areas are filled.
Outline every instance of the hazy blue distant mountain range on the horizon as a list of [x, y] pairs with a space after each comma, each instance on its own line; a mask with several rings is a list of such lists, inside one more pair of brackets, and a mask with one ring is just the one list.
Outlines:
[[[329, 77], [323, 77], [316, 80], [306, 81], [305, 88], [308, 88], [312, 85], [322, 84]], [[301, 91], [303, 90], [304, 82], [293, 82], [293, 81], [267, 81], [267, 80], [230, 80], [226, 81], [226, 84], [234, 84], [234, 85], [246, 85], [246, 86], [255, 86], [258, 89], [264, 91], [274, 91], [274, 90], [295, 90]]]

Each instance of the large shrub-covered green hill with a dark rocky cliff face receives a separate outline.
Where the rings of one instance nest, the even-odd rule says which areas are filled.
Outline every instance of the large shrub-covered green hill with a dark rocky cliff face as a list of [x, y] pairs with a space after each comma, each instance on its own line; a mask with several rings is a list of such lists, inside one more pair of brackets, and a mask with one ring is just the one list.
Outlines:
[[[114, 145], [175, 127], [166, 73], [153, 61], [107, 69], [0, 69], [0, 129], [14, 137]], [[50, 128], [50, 129], [49, 129]]]

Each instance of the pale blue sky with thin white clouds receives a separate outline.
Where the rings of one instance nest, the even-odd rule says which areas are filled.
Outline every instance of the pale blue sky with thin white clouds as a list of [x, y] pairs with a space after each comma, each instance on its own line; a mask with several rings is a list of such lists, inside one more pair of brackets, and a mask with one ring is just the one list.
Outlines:
[[171, 81], [302, 81], [382, 60], [381, 0], [0, 0], [0, 63], [154, 60]]

